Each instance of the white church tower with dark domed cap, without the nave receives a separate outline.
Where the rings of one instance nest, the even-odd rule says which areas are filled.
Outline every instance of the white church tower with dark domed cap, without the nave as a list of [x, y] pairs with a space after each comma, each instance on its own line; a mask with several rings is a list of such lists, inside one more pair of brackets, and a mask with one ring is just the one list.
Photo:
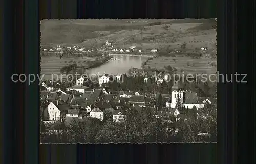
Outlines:
[[178, 94], [180, 96], [180, 102], [182, 104], [183, 103], [183, 98], [184, 98], [184, 90], [183, 90], [183, 87], [180, 84], [176, 83], [172, 87], [172, 102], [170, 103], [171, 108], [175, 108]]

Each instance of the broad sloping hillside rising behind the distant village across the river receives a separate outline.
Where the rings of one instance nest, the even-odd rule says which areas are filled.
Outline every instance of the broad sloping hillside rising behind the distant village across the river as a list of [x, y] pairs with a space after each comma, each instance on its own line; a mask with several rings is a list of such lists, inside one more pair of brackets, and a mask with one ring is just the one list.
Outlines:
[[177, 48], [186, 42], [194, 49], [215, 48], [214, 19], [137, 20], [42, 20], [41, 45], [101, 46], [106, 40], [117, 47]]

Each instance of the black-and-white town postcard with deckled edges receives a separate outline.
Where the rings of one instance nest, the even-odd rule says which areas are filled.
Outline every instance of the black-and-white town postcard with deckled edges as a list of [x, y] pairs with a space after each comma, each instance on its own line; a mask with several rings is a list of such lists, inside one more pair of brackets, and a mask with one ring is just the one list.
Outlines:
[[40, 143], [217, 142], [217, 19], [40, 22]]

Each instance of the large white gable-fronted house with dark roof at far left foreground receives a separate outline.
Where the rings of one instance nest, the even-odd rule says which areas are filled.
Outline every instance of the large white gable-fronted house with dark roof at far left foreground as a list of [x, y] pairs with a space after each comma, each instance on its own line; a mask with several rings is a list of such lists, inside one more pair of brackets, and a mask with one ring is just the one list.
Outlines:
[[53, 101], [48, 105], [49, 120], [57, 121], [66, 116], [69, 105], [63, 101]]

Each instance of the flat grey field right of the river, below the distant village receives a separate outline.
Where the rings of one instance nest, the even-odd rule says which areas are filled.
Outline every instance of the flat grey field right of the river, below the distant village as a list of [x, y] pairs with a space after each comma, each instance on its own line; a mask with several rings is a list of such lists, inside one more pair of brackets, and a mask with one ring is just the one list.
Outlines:
[[[176, 60], [173, 60], [176, 59]], [[191, 57], [158, 57], [149, 60], [145, 67], [156, 68], [158, 70], [164, 69], [164, 66], [172, 66], [180, 72], [182, 69], [184, 73], [191, 74], [215, 74], [216, 73], [216, 60], [210, 61], [204, 59], [191, 59]]]

